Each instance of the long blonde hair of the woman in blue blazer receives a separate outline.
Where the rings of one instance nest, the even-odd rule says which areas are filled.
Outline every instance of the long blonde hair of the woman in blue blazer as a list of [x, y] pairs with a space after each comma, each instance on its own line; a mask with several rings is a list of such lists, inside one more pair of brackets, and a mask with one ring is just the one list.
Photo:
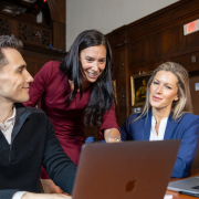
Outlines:
[[145, 115], [148, 115], [148, 112], [151, 108], [150, 103], [149, 103], [150, 85], [154, 81], [155, 75], [159, 71], [169, 71], [172, 74], [175, 74], [176, 77], [178, 78], [177, 86], [178, 86], [179, 100], [172, 102], [172, 106], [171, 106], [172, 118], [177, 121], [185, 113], [192, 113], [192, 104], [191, 104], [191, 96], [190, 96], [190, 90], [189, 90], [189, 74], [187, 70], [184, 66], [179, 65], [178, 63], [166, 62], [159, 65], [151, 74], [147, 84], [145, 106], [143, 108], [142, 114], [135, 121], [144, 117]]

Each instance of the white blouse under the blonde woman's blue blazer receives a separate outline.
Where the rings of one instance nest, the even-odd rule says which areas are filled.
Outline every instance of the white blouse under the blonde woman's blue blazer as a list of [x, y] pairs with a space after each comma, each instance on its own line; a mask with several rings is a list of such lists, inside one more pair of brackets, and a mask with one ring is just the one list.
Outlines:
[[168, 121], [168, 117], [165, 117], [164, 119], [160, 121], [158, 135], [157, 135], [156, 129], [155, 129], [156, 119], [154, 116], [151, 117], [151, 128], [150, 128], [149, 140], [164, 140], [167, 121]]

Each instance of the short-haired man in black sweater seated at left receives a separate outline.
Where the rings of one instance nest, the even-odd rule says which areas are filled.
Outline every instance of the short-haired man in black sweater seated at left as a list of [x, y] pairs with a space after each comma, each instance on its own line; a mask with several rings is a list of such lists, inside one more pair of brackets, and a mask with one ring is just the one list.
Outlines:
[[21, 48], [13, 35], [0, 36], [0, 199], [71, 198], [39, 193], [42, 165], [69, 193], [76, 166], [63, 151], [45, 113], [21, 104], [29, 100], [33, 81]]

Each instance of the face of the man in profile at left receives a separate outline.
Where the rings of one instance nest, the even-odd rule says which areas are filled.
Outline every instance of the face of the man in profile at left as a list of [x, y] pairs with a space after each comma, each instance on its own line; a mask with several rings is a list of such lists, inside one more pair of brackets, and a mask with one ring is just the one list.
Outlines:
[[2, 49], [8, 63], [0, 67], [0, 102], [29, 101], [29, 86], [33, 82], [27, 63], [15, 49]]

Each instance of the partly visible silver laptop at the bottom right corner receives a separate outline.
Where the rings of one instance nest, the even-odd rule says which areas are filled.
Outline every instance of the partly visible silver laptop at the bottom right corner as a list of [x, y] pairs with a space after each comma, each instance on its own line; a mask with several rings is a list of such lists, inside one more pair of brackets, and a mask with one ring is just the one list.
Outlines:
[[181, 195], [199, 197], [199, 176], [169, 182], [167, 189]]

